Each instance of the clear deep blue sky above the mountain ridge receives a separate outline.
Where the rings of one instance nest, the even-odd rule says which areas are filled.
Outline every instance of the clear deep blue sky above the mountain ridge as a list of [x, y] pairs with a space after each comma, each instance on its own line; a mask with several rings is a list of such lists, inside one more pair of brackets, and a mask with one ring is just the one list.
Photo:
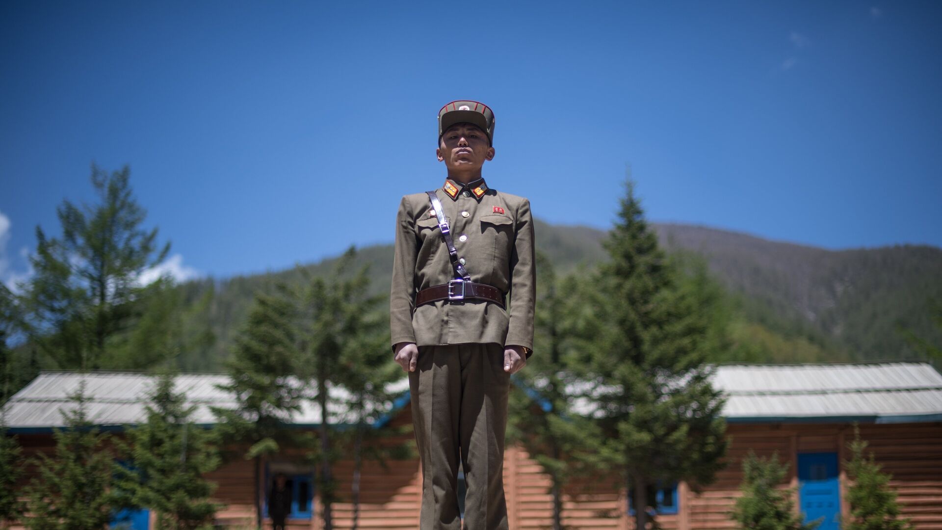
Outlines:
[[942, 246], [940, 26], [938, 2], [4, 2], [0, 281], [92, 161], [130, 164], [178, 274], [391, 241], [465, 98], [495, 109], [489, 184], [551, 223], [608, 227], [630, 164], [653, 221]]

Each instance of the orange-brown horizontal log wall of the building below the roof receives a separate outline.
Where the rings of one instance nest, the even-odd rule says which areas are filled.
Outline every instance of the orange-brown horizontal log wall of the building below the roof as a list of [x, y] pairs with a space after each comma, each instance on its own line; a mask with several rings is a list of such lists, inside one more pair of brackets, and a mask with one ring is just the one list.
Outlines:
[[[400, 414], [397, 424], [409, 422], [408, 409]], [[869, 441], [877, 462], [893, 475], [891, 486], [898, 491], [902, 512], [912, 518], [920, 530], [942, 530], [942, 422], [863, 424], [861, 437]], [[783, 488], [797, 487], [797, 455], [799, 453], [836, 452], [841, 462], [849, 455], [846, 443], [853, 439], [849, 423], [806, 424], [730, 424], [731, 439], [726, 468], [719, 472], [712, 485], [694, 492], [681, 483], [676, 515], [662, 515], [658, 522], [666, 530], [732, 530], [728, 512], [739, 495], [742, 458], [750, 450], [757, 455], [778, 453], [789, 464]], [[52, 439], [47, 435], [19, 437], [24, 456], [47, 452]], [[253, 496], [261, 485], [254, 484], [252, 461], [235, 461], [210, 476], [219, 485], [216, 499], [225, 504], [219, 511], [219, 522], [231, 527], [248, 528], [255, 519]], [[334, 527], [351, 528], [353, 505], [350, 503], [352, 463], [340, 462], [335, 470], [340, 480], [338, 493], [342, 499], [333, 505]], [[840, 467], [842, 513], [846, 503], [847, 476]], [[511, 527], [540, 529], [551, 527], [552, 498], [549, 477], [527, 452], [520, 447], [508, 448], [505, 455], [504, 484], [507, 490]], [[421, 474], [417, 459], [389, 461], [386, 467], [365, 462], [361, 482], [359, 528], [415, 528], [421, 502]], [[296, 530], [320, 528], [321, 505], [315, 497], [315, 517], [290, 521]], [[596, 479], [573, 484], [564, 491], [564, 522], [572, 528], [598, 530], [629, 530], [633, 528], [626, 513], [625, 489], [611, 481]], [[797, 509], [797, 508], [796, 508]], [[266, 526], [269, 522], [266, 521]], [[21, 528], [14, 525], [13, 528]]]

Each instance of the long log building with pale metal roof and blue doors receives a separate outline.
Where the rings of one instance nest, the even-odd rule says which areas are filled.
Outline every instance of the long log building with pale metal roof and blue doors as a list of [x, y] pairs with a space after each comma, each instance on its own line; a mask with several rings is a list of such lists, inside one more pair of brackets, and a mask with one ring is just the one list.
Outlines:
[[[142, 397], [151, 377], [130, 373], [42, 373], [10, 399], [8, 424], [35, 454], [52, 448], [52, 428], [61, 423], [59, 410], [70, 406], [67, 396], [85, 380], [91, 395], [91, 419], [105, 429], [120, 430], [142, 417]], [[178, 389], [198, 406], [196, 422], [212, 422], [208, 406], [232, 404], [215, 388], [221, 375], [185, 374]], [[658, 522], [665, 529], [734, 528], [728, 518], [739, 491], [740, 459], [749, 450], [758, 455], [777, 452], [790, 464], [788, 484], [796, 489], [798, 509], [806, 517], [824, 517], [821, 530], [838, 528], [836, 517], [848, 513], [848, 479], [842, 462], [853, 423], [899, 492], [905, 516], [923, 530], [942, 530], [942, 375], [925, 363], [736, 365], [722, 366], [714, 384], [728, 401], [731, 447], [727, 467], [717, 481], [699, 493], [684, 482], [658, 489]], [[402, 390], [405, 390], [403, 385]], [[390, 411], [392, 424], [411, 422], [408, 393]], [[314, 428], [319, 418], [305, 409], [296, 419]], [[252, 463], [236, 461], [212, 473], [219, 484], [216, 498], [226, 507], [219, 524], [252, 527], [256, 505], [263, 505], [267, 485], [284, 472], [294, 495], [291, 528], [319, 528], [313, 470], [290, 455], [269, 459], [255, 479]], [[336, 469], [339, 491], [349, 492], [352, 464]], [[415, 528], [420, 502], [420, 474], [415, 460], [390, 461], [387, 467], [367, 463], [362, 475], [358, 526], [364, 529]], [[520, 447], [506, 452], [504, 483], [513, 529], [551, 527], [549, 480]], [[631, 509], [628, 492], [604, 481], [574, 485], [564, 495], [565, 522], [572, 528], [627, 530]], [[257, 500], [257, 502], [256, 502]], [[349, 528], [353, 505], [349, 495], [333, 506], [336, 528]], [[135, 528], [148, 528], [149, 516], [138, 513]], [[268, 522], [266, 522], [268, 524]]]

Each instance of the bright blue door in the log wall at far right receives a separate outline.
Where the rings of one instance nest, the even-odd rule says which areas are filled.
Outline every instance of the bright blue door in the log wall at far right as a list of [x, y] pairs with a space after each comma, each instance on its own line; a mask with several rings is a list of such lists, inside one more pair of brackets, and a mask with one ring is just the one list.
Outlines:
[[804, 521], [823, 518], [818, 530], [839, 530], [840, 481], [836, 453], [799, 453], [798, 497]]

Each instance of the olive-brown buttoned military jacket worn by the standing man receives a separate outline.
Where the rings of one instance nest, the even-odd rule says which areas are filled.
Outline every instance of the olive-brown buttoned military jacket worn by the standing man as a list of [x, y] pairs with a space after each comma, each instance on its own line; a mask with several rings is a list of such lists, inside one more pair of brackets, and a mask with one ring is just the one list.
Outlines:
[[415, 307], [418, 290], [446, 284], [455, 273], [429, 196], [405, 195], [396, 215], [392, 344], [496, 342], [532, 349], [536, 269], [528, 199], [488, 188], [484, 179], [467, 186], [448, 179], [436, 192], [471, 281], [505, 292], [508, 307], [479, 299]]

